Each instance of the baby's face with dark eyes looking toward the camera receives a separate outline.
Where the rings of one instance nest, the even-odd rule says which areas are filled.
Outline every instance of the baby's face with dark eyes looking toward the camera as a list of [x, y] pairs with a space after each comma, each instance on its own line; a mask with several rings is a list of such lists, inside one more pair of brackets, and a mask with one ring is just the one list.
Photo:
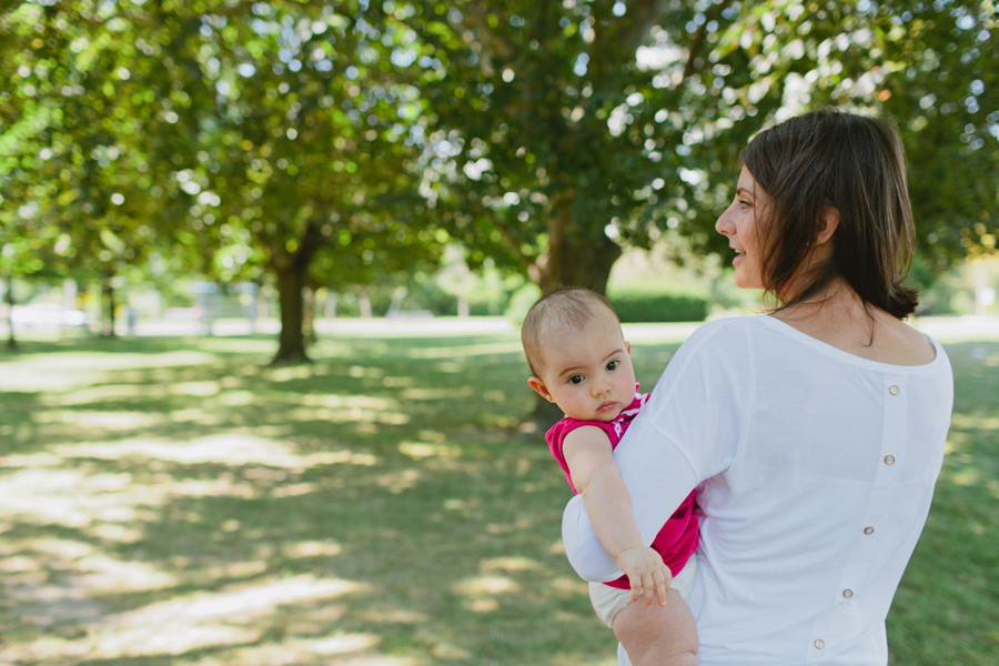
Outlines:
[[597, 317], [583, 331], [553, 336], [539, 379], [566, 416], [613, 421], [635, 397], [629, 352], [617, 321]]

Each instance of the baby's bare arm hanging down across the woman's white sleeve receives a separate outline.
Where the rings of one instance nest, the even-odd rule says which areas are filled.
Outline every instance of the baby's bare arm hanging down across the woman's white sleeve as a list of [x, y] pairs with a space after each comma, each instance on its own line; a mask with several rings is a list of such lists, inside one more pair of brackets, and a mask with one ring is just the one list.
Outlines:
[[654, 594], [664, 605], [669, 568], [658, 553], [642, 543], [632, 516], [632, 497], [614, 462], [607, 434], [592, 425], [577, 427], [566, 435], [562, 453], [594, 531], [632, 583], [632, 601], [643, 596], [644, 589], [646, 607], [652, 605]]

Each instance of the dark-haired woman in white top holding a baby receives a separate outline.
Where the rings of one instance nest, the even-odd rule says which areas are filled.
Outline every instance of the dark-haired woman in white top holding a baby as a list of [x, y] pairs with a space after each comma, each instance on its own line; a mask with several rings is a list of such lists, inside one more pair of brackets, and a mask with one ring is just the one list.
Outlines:
[[[741, 162], [716, 229], [736, 284], [774, 307], [698, 329], [615, 458], [645, 543], [697, 488], [702, 666], [880, 666], [953, 398], [944, 349], [901, 321], [917, 303], [901, 143], [820, 111]], [[618, 575], [577, 498], [563, 537], [584, 578]]]

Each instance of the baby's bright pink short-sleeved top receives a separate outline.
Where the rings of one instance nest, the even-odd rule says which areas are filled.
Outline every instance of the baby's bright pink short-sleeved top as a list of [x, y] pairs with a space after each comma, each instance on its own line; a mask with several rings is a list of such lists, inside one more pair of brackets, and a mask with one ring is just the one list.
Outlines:
[[[638, 410], [642, 408], [642, 405], [644, 405], [647, 400], [647, 393], [636, 392], [635, 398], [614, 421], [605, 423], [602, 421], [578, 421], [576, 418], [566, 417], [548, 430], [545, 434], [545, 438], [548, 441], [548, 450], [552, 452], [552, 455], [555, 456], [558, 466], [562, 467], [562, 471], [565, 473], [565, 480], [568, 482], [569, 487], [573, 488], [574, 493], [576, 492], [576, 486], [573, 485], [568, 465], [566, 464], [565, 455], [562, 452], [566, 435], [581, 425], [594, 425], [607, 433], [607, 437], [610, 438], [610, 448], [614, 450], [620, 442], [622, 436], [624, 436], [625, 431], [628, 430], [632, 420], [635, 418], [638, 414]], [[663, 556], [663, 562], [666, 563], [666, 566], [669, 567], [672, 573], [679, 573], [697, 549], [697, 529], [698, 521], [697, 514], [695, 513], [694, 493], [692, 492], [676, 512], [669, 516], [669, 519], [666, 521], [666, 524], [663, 525], [663, 528], [659, 529], [659, 533], [652, 543], [653, 549]], [[616, 581], [606, 583], [606, 585], [618, 589], [628, 589], [630, 587], [627, 576], [622, 576]]]

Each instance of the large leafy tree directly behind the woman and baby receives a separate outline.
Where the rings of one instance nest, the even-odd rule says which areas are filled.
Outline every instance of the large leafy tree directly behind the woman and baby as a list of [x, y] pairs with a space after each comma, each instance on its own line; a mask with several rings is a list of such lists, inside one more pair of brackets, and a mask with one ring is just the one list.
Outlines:
[[[835, 103], [895, 118], [916, 160], [944, 155], [928, 160], [936, 172], [914, 160], [917, 208], [932, 215], [924, 254], [942, 266], [993, 248], [989, 4], [420, 2], [427, 67], [441, 72], [425, 93], [436, 184], [453, 205], [443, 216], [473, 256], [502, 258], [543, 291], [603, 291], [620, 244], [660, 235], [677, 259], [725, 256], [713, 225], [741, 147]], [[935, 105], [941, 74], [955, 101]], [[977, 194], [957, 201], [960, 171], [939, 172], [968, 160]]]

